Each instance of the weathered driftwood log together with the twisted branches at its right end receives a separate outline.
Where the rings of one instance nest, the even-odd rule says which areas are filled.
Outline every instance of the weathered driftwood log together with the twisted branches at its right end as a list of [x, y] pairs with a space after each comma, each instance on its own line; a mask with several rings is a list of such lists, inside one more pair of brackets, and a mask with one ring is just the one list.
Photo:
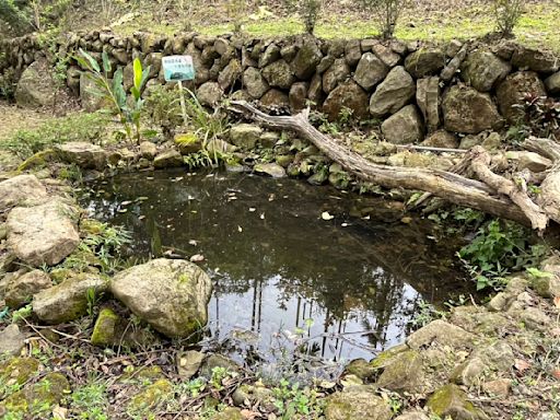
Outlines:
[[[425, 191], [452, 203], [469, 207], [503, 219], [510, 219], [544, 231], [549, 219], [560, 220], [560, 173], [552, 171], [542, 183], [541, 203], [535, 203], [523, 189], [524, 183], [513, 182], [490, 170], [490, 158], [485, 149], [470, 150], [455, 172], [440, 170], [385, 166], [370, 162], [348, 150], [337, 140], [322, 133], [308, 121], [310, 109], [294, 116], [267, 115], [244, 101], [231, 103], [233, 110], [248, 114], [254, 120], [277, 129], [296, 131], [332, 161], [358, 178], [387, 188], [406, 188]], [[530, 140], [530, 139], [529, 139]], [[533, 143], [535, 141], [533, 140]], [[560, 148], [555, 142], [536, 142], [533, 149], [546, 148], [548, 156], [560, 158]], [[542, 152], [542, 154], [545, 154]], [[475, 173], [479, 179], [462, 174]], [[460, 174], [459, 174], [460, 173]], [[550, 192], [545, 192], [545, 186]], [[521, 185], [521, 186], [520, 186]], [[541, 200], [541, 201], [542, 201]]]

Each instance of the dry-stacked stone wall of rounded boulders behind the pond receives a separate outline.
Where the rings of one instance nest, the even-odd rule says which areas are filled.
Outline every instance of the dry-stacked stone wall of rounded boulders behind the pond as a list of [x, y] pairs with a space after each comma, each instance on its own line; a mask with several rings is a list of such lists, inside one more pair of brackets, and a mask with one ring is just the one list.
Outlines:
[[[164, 37], [143, 32], [121, 37], [92, 32], [69, 34], [57, 43], [50, 49], [60, 57], [83, 48], [101, 58], [106, 49], [114, 65], [125, 67], [128, 85], [133, 58], [152, 66], [151, 85], [163, 83], [162, 56], [188, 54], [197, 70], [192, 88], [203, 104], [234, 94], [296, 112], [311, 102], [329, 119], [348, 107], [354, 117], [382, 120], [384, 137], [395, 143], [420, 142], [429, 136], [433, 145], [453, 145], [457, 140], [448, 132], [478, 135], [515, 122], [520, 112], [515, 105], [527, 93], [560, 96], [559, 58], [512, 42], [453, 40], [430, 46], [305, 35], [256, 39], [196, 33]], [[4, 52], [0, 72], [14, 71], [25, 78], [24, 70], [40, 61], [46, 50], [33, 35], [5, 40], [0, 45]], [[86, 95], [86, 80], [72, 60], [67, 83], [74, 94]], [[85, 98], [83, 104], [96, 106]], [[439, 131], [442, 128], [447, 132]]]

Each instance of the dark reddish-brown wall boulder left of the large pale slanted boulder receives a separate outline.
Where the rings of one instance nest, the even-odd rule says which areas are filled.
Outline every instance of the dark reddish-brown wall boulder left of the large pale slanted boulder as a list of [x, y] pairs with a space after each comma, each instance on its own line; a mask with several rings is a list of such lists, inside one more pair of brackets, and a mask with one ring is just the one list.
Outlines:
[[323, 104], [323, 112], [330, 120], [335, 120], [345, 107], [352, 110], [354, 118], [363, 118], [368, 115], [368, 94], [352, 81], [340, 84], [329, 93]]

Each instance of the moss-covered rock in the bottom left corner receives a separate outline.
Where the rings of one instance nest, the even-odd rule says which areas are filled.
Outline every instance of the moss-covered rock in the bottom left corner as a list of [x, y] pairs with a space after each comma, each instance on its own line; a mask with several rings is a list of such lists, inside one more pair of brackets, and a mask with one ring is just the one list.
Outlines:
[[[68, 393], [70, 393], [70, 383], [67, 377], [59, 372], [52, 372], [46, 374], [36, 384], [10, 395], [4, 399], [2, 406], [5, 415], [22, 416], [31, 413], [33, 418], [45, 418]], [[0, 406], [0, 412], [2, 406]]]

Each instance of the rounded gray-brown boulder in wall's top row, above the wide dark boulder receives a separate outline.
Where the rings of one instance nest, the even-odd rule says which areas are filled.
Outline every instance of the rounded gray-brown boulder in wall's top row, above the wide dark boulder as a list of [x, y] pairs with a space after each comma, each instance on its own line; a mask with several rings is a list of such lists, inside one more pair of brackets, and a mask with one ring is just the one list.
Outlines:
[[460, 70], [460, 77], [479, 92], [489, 92], [511, 71], [509, 62], [492, 52], [479, 49], [467, 56]]

